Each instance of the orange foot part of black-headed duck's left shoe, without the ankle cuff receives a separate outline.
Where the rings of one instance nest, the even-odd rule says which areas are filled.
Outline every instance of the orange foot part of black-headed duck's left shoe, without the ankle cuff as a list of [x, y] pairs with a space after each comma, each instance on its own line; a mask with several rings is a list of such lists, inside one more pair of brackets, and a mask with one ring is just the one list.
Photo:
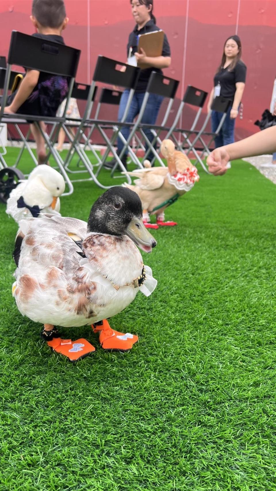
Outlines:
[[94, 353], [95, 348], [86, 339], [80, 338], [76, 341], [71, 339], [53, 338], [47, 341], [48, 346], [56, 353], [67, 356], [70, 361], [77, 361], [84, 356]]

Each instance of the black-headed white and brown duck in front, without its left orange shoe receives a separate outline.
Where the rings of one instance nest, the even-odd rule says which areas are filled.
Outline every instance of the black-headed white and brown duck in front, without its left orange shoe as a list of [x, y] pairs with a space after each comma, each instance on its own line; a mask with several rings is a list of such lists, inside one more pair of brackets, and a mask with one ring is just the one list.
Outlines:
[[43, 338], [58, 336], [55, 326], [90, 324], [100, 330], [102, 348], [132, 348], [138, 337], [114, 331], [105, 319], [139, 290], [149, 296], [157, 283], [135, 245], [146, 252], [156, 246], [142, 222], [139, 196], [113, 187], [94, 203], [88, 223], [44, 215], [19, 225], [13, 295], [22, 315], [44, 324]]

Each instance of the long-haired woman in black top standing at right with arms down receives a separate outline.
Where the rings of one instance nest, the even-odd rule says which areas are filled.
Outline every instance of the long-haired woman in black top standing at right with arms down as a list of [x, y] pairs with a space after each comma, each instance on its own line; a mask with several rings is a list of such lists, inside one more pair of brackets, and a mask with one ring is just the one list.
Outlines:
[[[234, 142], [235, 119], [239, 112], [246, 81], [246, 65], [241, 60], [242, 46], [239, 36], [226, 39], [222, 61], [214, 77], [214, 87], [210, 93], [207, 109], [211, 109], [214, 97], [221, 95], [231, 99], [226, 119], [219, 135], [215, 139], [215, 146], [222, 147]], [[223, 117], [222, 112], [212, 111], [212, 132], [214, 133]]]

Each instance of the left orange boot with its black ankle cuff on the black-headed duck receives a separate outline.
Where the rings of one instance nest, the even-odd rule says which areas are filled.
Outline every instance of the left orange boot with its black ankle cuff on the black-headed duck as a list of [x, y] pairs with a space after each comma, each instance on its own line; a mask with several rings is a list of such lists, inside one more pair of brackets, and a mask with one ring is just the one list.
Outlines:
[[45, 325], [42, 331], [42, 339], [47, 341], [48, 346], [52, 351], [60, 353], [61, 355], [69, 358], [70, 361], [77, 361], [80, 358], [91, 355], [94, 353], [95, 348], [86, 339], [80, 338], [76, 341], [71, 341], [71, 339], [61, 339], [57, 337], [58, 332], [55, 327], [52, 329], [45, 329], [45, 327], [50, 325]]

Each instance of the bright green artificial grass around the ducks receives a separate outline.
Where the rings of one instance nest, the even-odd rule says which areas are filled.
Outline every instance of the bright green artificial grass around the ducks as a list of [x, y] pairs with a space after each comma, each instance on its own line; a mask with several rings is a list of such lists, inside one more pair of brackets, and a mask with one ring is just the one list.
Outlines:
[[[77, 364], [17, 310], [0, 206], [0, 491], [276, 490], [276, 188], [244, 162], [200, 175], [143, 253], [155, 292], [111, 320], [139, 343], [105, 353], [63, 329], [97, 349]], [[62, 214], [87, 219], [101, 192], [75, 184]]]

